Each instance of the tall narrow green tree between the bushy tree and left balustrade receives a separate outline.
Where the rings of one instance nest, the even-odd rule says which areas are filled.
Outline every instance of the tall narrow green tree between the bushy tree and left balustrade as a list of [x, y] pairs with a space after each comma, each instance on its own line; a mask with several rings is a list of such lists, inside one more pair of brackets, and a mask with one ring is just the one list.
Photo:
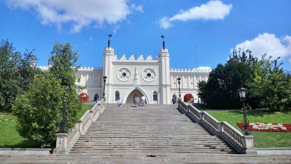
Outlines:
[[[79, 94], [81, 89], [84, 87], [77, 86], [76, 72], [80, 65], [77, 65], [78, 52], [72, 50], [70, 43], [56, 43], [51, 52], [52, 56], [49, 57], [48, 65], [49, 72], [53, 74], [57, 79], [60, 79], [60, 85], [68, 89], [67, 94], [65, 94], [66, 102], [66, 125], [65, 130], [68, 131], [71, 127], [77, 123], [77, 112], [82, 109], [82, 103], [79, 100]], [[65, 91], [63, 91], [64, 93]], [[60, 109], [60, 111], [62, 111]]]

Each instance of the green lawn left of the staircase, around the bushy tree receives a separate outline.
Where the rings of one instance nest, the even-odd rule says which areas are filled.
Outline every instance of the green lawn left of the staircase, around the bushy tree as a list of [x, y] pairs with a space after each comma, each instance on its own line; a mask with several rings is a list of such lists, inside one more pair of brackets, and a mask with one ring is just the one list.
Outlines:
[[[86, 110], [90, 110], [92, 107], [93, 105], [83, 105], [83, 109], [79, 111], [78, 118], [80, 119]], [[16, 117], [11, 113], [0, 109], [0, 147], [40, 148], [41, 145], [19, 136], [15, 130], [16, 120]]]

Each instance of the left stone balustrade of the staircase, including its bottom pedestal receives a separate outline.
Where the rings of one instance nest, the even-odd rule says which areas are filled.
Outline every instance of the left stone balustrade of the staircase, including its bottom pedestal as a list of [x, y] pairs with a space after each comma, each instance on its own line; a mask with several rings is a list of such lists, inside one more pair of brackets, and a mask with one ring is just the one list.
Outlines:
[[79, 136], [87, 131], [92, 122], [96, 121], [99, 114], [103, 112], [105, 105], [105, 100], [102, 99], [91, 110], [87, 110], [68, 133], [57, 133], [56, 148], [53, 150], [53, 154], [69, 154], [70, 149], [72, 149]]

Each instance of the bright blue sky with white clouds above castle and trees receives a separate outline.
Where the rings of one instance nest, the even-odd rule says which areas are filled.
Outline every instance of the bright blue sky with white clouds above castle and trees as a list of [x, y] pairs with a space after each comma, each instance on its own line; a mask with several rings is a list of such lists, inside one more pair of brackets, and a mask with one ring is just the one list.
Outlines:
[[170, 68], [215, 68], [233, 48], [281, 56], [291, 70], [291, 1], [2, 0], [0, 38], [46, 66], [56, 40], [79, 51], [83, 67], [102, 67], [108, 34], [120, 59], [155, 56], [165, 36]]

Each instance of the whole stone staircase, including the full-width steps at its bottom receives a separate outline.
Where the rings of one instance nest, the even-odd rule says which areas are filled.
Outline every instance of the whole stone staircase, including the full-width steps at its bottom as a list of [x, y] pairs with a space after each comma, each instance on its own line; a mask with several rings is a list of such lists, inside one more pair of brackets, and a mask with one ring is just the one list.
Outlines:
[[0, 155], [0, 163], [291, 163], [291, 155], [239, 154], [177, 105], [107, 104], [65, 155]]

